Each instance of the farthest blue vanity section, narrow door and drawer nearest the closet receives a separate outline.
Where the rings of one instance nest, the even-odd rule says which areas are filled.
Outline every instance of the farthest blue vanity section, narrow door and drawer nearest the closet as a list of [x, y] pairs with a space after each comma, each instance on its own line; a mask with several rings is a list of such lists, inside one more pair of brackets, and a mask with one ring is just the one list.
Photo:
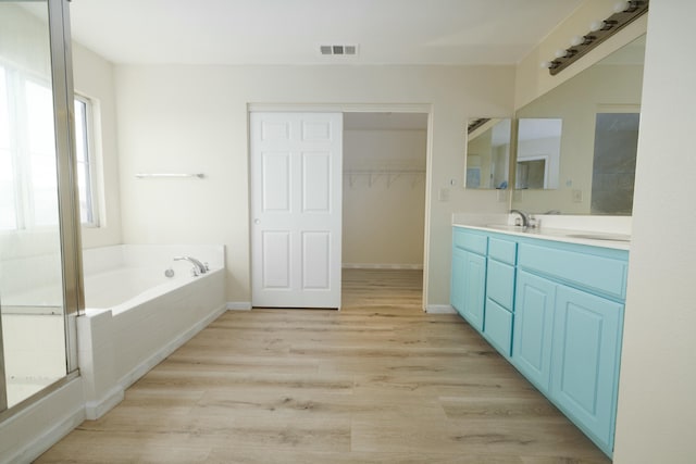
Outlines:
[[487, 249], [485, 233], [455, 228], [450, 303], [478, 331], [484, 325]]

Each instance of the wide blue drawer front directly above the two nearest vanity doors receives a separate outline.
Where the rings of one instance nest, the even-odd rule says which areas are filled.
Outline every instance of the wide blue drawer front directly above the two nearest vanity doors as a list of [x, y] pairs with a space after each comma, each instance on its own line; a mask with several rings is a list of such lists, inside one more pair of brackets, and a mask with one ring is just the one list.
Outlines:
[[625, 299], [629, 263], [624, 260], [531, 243], [520, 243], [518, 259], [521, 268], [535, 274]]

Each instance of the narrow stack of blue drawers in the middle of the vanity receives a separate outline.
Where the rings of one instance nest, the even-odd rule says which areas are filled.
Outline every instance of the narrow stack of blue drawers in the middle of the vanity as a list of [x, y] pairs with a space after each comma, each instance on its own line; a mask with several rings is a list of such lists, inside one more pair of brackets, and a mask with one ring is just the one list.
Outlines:
[[484, 337], [500, 354], [512, 354], [517, 242], [500, 236], [488, 238]]

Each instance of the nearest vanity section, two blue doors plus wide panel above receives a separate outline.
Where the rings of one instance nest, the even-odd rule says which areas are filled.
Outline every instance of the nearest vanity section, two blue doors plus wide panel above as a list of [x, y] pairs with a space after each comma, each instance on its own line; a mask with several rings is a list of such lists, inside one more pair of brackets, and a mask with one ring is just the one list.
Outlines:
[[519, 244], [512, 363], [608, 455], [627, 259], [601, 247]]

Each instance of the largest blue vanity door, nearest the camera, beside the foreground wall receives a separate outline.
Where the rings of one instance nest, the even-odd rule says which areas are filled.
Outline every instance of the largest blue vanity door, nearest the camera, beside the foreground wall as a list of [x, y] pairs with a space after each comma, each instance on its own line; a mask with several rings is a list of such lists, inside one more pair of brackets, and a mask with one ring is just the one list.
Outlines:
[[566, 286], [556, 297], [551, 399], [613, 446], [623, 305]]

